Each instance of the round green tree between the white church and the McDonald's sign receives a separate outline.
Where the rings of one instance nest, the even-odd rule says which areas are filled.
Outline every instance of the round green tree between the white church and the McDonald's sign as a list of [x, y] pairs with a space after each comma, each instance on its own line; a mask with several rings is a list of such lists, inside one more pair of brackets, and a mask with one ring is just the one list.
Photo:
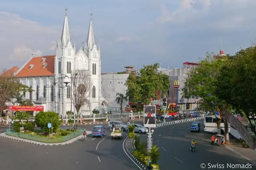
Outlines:
[[158, 64], [147, 65], [138, 73], [132, 72], [126, 80], [129, 101], [149, 104], [156, 91], [166, 96], [170, 89], [169, 76], [158, 72]]

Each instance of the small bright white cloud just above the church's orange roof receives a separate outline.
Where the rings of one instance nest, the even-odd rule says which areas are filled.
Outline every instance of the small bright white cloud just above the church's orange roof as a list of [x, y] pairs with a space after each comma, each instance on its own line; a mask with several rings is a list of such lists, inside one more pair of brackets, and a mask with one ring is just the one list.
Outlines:
[[10, 57], [8, 58], [9, 61], [28, 61], [31, 57], [32, 54], [35, 56], [40, 56], [42, 55], [42, 51], [40, 50], [32, 50], [24, 45], [21, 45], [20, 47], [16, 47]]

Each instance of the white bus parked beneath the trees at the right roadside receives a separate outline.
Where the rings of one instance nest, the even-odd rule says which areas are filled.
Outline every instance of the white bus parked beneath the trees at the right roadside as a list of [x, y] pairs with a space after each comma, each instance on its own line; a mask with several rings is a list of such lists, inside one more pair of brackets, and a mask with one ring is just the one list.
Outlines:
[[[217, 128], [217, 118], [215, 115], [212, 116], [204, 116], [204, 131], [210, 133], [218, 133]], [[222, 129], [223, 133], [225, 132], [224, 120], [221, 120], [220, 129]], [[228, 123], [228, 133], [230, 133], [230, 124]]]

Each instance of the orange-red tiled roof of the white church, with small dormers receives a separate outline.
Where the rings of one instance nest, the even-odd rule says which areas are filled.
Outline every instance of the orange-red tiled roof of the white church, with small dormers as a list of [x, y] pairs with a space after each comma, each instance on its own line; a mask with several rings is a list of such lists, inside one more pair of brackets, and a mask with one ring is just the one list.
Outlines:
[[[30, 61], [18, 72], [17, 77], [36, 77], [36, 76], [53, 76], [54, 75], [54, 57], [55, 55], [33, 57]], [[42, 58], [46, 60], [42, 62]], [[47, 63], [46, 67], [43, 66]], [[30, 65], [34, 65], [30, 68]]]

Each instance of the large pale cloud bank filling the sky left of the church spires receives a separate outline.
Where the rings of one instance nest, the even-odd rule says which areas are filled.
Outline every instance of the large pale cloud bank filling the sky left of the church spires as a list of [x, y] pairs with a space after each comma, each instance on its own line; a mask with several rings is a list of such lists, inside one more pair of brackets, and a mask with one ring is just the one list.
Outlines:
[[1, 11], [0, 32], [0, 59], [9, 56], [8, 61], [4, 60], [6, 63], [1, 62], [6, 68], [13, 63], [21, 66], [18, 61], [26, 62], [32, 53], [38, 55], [42, 54], [42, 51], [47, 51], [47, 47], [52, 45], [49, 42], [60, 34], [51, 27], [26, 20], [14, 13]]

